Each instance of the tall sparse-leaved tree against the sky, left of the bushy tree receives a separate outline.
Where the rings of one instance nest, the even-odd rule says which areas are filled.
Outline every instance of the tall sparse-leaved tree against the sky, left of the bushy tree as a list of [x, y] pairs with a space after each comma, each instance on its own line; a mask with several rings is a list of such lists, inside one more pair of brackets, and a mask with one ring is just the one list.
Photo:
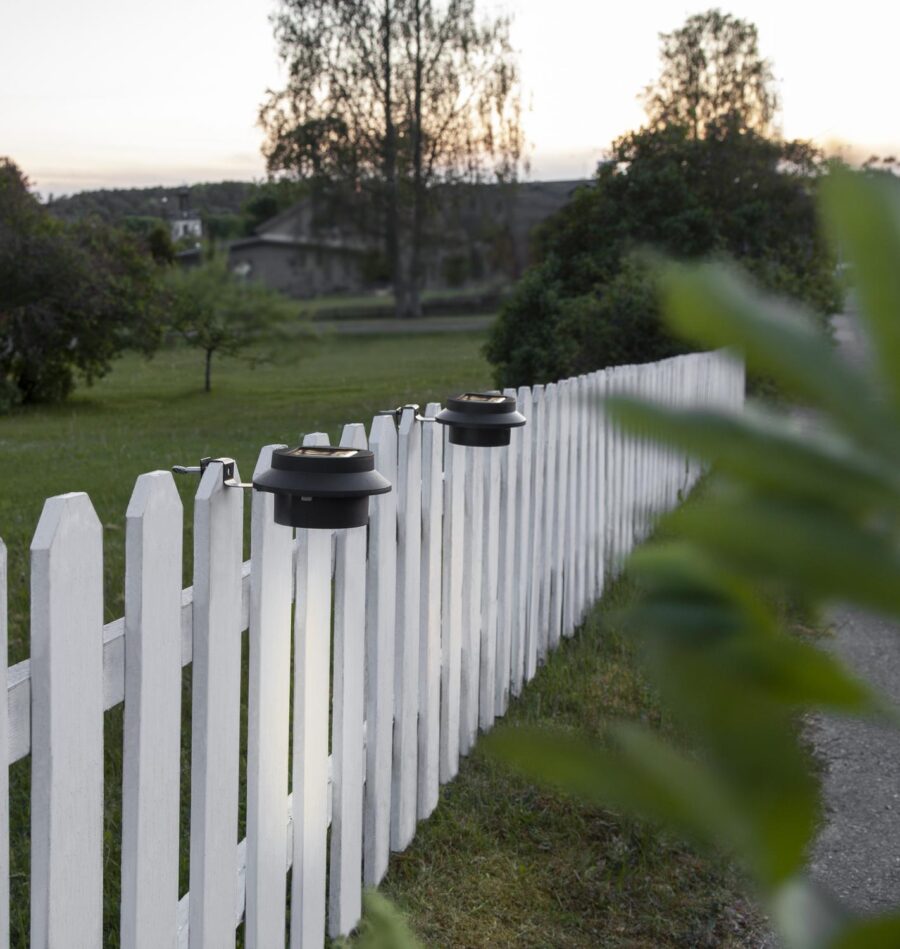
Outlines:
[[281, 0], [275, 35], [290, 80], [260, 111], [270, 173], [376, 234], [398, 315], [420, 315], [435, 186], [516, 176], [508, 19], [474, 0]]

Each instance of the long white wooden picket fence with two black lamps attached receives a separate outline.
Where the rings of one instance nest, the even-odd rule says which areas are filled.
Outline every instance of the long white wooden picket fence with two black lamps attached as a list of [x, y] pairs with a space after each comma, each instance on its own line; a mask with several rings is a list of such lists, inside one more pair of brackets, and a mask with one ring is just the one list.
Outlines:
[[[735, 360], [705, 353], [507, 390], [528, 419], [508, 449], [451, 446], [442, 426], [410, 409], [399, 424], [373, 419], [368, 438], [347, 425], [341, 443], [368, 445], [394, 485], [372, 500], [368, 528], [295, 537], [274, 523], [273, 496], [253, 492], [246, 563], [245, 495], [223, 486], [213, 462], [196, 495], [185, 590], [172, 476], [141, 475], [126, 515], [125, 616], [106, 625], [91, 502], [50, 498], [31, 547], [31, 660], [8, 670], [0, 703], [0, 753], [9, 763], [31, 755], [33, 949], [102, 944], [103, 761], [118, 750], [103, 747], [103, 715], [123, 701], [122, 945], [225, 949], [244, 921], [251, 949], [284, 946], [290, 867], [290, 946], [318, 949], [326, 932], [350, 932], [363, 886], [408, 846], [479, 729], [504, 714], [699, 474], [690, 459], [609, 424], [602, 397], [736, 410], [743, 390]], [[274, 447], [262, 449], [260, 468]], [[3, 657], [5, 595], [0, 543]], [[247, 834], [238, 842], [248, 629]], [[190, 662], [190, 891], [179, 898]]]

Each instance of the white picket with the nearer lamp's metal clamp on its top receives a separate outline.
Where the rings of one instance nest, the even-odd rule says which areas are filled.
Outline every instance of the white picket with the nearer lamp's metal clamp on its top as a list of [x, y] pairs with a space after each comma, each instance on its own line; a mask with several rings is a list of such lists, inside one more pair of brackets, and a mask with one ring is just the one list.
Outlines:
[[226, 488], [222, 470], [209, 463], [194, 505], [191, 949], [235, 944], [244, 492]]

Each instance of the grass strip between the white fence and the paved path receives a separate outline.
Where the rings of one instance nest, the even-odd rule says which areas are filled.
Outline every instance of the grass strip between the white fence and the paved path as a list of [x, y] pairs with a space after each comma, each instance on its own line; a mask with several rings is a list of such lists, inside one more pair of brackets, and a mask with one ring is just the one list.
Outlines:
[[[611, 721], [629, 719], [670, 734], [617, 627], [632, 596], [618, 583], [504, 722], [599, 737]], [[381, 890], [423, 946], [442, 949], [749, 947], [760, 945], [763, 925], [723, 861], [536, 787], [477, 746], [412, 845], [392, 856]]]

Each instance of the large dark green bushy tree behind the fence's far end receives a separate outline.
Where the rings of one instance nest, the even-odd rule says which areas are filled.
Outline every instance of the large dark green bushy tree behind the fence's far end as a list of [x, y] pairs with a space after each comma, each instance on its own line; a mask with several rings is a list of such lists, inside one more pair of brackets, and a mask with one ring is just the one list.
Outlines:
[[[746, 44], [732, 46], [730, 73], [749, 69]], [[742, 96], [725, 108], [730, 88], [709, 91], [715, 102], [694, 109], [699, 126], [659, 119], [621, 136], [592, 186], [538, 229], [536, 269], [504, 303], [488, 342], [499, 385], [682, 352], [686, 344], [660, 319], [640, 259], [648, 250], [738, 260], [823, 322], [840, 307], [834, 252], [816, 227], [815, 193], [827, 163], [807, 142], [756, 131]]]

